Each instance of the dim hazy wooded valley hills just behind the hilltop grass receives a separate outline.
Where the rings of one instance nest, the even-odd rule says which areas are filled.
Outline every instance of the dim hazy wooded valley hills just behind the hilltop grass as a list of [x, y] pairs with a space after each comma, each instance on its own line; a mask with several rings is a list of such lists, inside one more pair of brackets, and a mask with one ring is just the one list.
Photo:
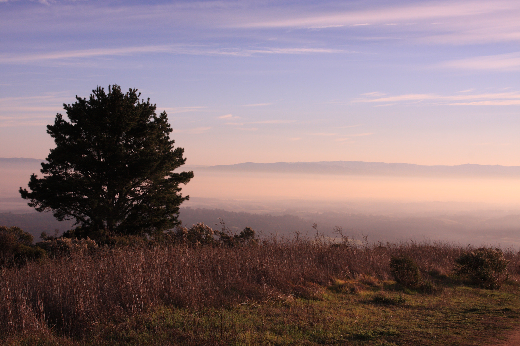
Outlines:
[[[394, 217], [337, 212], [298, 215], [272, 216], [184, 207], [180, 209], [179, 218], [188, 228], [203, 222], [213, 229], [219, 229], [220, 220], [224, 220], [226, 227], [232, 231], [240, 232], [245, 227], [251, 227], [264, 236], [292, 236], [297, 231], [312, 237], [316, 234], [316, 230], [313, 229], [313, 223], [316, 223], [318, 231], [327, 237], [334, 237], [334, 227], [342, 226], [349, 236], [361, 239], [363, 234], [368, 234], [371, 241], [449, 239], [475, 245], [492, 243], [518, 247], [520, 244], [520, 215], [497, 218], [462, 214]], [[59, 229], [61, 233], [72, 229], [73, 222], [58, 222], [51, 213], [0, 213], [0, 226], [17, 226], [38, 238], [41, 232], [54, 233], [55, 229]]]

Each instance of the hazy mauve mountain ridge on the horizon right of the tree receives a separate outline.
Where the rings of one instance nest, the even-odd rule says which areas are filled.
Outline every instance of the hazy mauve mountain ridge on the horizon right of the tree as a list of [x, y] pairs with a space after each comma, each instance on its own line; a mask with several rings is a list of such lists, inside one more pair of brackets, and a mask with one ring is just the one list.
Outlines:
[[317, 162], [244, 162], [214, 165], [200, 168], [204, 171], [227, 172], [272, 172], [337, 175], [386, 175], [386, 176], [482, 176], [520, 177], [520, 166], [460, 164], [420, 165], [413, 163], [385, 163], [364, 161], [317, 161]]

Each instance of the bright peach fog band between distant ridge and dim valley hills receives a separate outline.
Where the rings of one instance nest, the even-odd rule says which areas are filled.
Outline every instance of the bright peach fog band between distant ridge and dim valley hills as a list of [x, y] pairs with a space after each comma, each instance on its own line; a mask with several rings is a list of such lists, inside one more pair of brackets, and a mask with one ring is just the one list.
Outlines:
[[241, 200], [479, 202], [517, 204], [520, 178], [400, 177], [194, 170], [194, 197]]

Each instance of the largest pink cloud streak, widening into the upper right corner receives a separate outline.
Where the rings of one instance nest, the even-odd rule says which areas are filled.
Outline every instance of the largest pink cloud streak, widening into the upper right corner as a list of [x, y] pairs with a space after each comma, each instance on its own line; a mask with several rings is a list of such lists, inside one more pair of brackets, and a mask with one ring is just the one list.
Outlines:
[[[266, 18], [251, 18], [233, 27], [319, 28], [319, 27], [379, 27], [387, 35], [373, 39], [400, 39], [435, 44], [471, 44], [520, 40], [520, 3], [515, 0], [456, 0], [423, 1], [367, 6], [345, 11], [308, 11], [300, 15], [274, 13]], [[255, 20], [256, 19], [256, 20]], [[392, 28], [401, 27], [393, 34]], [[383, 29], [386, 27], [387, 29]], [[406, 29], [405, 29], [406, 28]], [[340, 29], [344, 30], [344, 29]], [[402, 30], [405, 30], [406, 37]], [[361, 37], [363, 36], [362, 33]], [[365, 38], [370, 38], [366, 36]]]

